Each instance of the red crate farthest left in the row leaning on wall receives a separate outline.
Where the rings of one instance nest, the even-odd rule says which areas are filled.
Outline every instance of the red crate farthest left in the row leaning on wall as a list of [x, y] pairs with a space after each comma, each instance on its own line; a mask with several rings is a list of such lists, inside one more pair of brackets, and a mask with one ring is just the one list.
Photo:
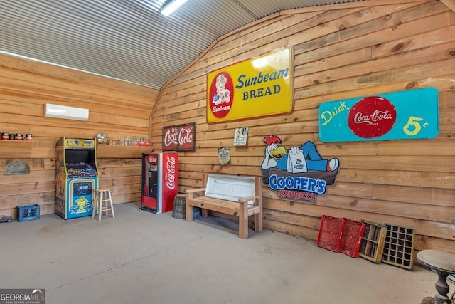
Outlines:
[[340, 251], [341, 231], [344, 219], [323, 215], [316, 244], [331, 251]]

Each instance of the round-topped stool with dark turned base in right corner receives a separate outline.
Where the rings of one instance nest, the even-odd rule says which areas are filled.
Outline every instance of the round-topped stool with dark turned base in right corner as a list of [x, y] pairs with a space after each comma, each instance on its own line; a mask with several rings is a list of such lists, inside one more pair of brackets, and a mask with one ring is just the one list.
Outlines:
[[417, 253], [417, 258], [424, 266], [438, 275], [438, 281], [435, 284], [436, 304], [450, 304], [451, 299], [447, 296], [449, 284], [447, 284], [446, 278], [449, 274], [455, 273], [455, 254], [439, 250], [422, 250]]

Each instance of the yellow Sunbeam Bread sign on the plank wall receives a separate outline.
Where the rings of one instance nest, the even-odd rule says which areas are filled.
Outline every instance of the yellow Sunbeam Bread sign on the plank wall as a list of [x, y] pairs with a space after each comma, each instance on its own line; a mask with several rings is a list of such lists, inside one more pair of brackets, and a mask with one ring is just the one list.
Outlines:
[[247, 120], [291, 112], [292, 48], [214, 70], [207, 76], [207, 122]]

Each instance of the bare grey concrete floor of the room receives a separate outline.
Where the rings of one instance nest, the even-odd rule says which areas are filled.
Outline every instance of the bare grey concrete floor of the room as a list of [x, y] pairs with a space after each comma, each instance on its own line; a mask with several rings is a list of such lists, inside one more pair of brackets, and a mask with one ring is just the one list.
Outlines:
[[45, 288], [46, 304], [419, 304], [435, 293], [437, 276], [417, 262], [375, 264], [267, 229], [239, 239], [232, 221], [138, 207], [0, 224], [0, 288]]

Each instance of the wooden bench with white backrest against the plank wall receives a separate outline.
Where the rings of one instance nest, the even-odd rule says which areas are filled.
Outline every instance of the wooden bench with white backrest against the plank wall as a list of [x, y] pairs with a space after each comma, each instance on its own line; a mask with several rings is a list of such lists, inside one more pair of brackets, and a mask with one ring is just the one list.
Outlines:
[[[248, 238], [248, 218], [255, 216], [255, 231], [262, 231], [262, 179], [228, 174], [204, 174], [204, 187], [186, 190], [186, 221], [193, 221], [193, 206], [237, 216], [239, 237]], [[200, 196], [194, 196], [199, 194]]]

